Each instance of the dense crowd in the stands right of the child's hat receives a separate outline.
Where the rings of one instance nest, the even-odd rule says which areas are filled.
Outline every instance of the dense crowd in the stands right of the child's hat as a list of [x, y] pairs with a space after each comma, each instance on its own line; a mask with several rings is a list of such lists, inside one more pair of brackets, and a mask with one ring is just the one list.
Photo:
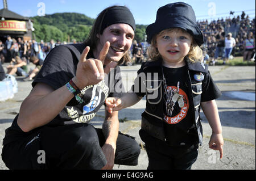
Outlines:
[[251, 20], [249, 15], [242, 12], [241, 16], [212, 20], [210, 23], [208, 20], [201, 20], [197, 22], [197, 26], [204, 34], [203, 47], [207, 48], [209, 62], [213, 65], [218, 57], [225, 61], [225, 40], [230, 35], [235, 40], [231, 55], [243, 56], [243, 61], [254, 60], [255, 17]]

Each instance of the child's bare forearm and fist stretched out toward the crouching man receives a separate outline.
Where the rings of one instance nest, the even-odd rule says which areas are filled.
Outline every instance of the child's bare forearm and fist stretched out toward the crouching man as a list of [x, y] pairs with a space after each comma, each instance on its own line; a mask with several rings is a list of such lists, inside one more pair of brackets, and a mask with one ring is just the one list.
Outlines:
[[108, 110], [109, 113], [119, 111], [123, 108], [133, 106], [141, 99], [142, 97], [137, 96], [134, 92], [127, 92], [122, 98], [110, 97], [105, 100], [106, 110]]

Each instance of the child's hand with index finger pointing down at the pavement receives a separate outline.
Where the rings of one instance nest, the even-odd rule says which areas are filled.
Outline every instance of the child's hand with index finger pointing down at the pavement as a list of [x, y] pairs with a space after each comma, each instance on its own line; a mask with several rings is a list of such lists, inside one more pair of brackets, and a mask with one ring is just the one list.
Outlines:
[[210, 136], [209, 141], [209, 148], [213, 150], [219, 150], [220, 151], [220, 158], [223, 157], [223, 148], [224, 145], [222, 134], [216, 134], [212, 133], [212, 136]]

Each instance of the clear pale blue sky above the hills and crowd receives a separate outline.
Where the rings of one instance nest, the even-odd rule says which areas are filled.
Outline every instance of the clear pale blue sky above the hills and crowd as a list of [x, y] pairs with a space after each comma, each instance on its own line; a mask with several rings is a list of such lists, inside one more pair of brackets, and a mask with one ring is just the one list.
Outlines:
[[[136, 24], [151, 24], [155, 22], [159, 7], [177, 1], [166, 0], [7, 0], [8, 9], [19, 15], [43, 16], [56, 12], [78, 12], [96, 18], [108, 6], [127, 6], [134, 15]], [[233, 18], [242, 11], [255, 17], [255, 0], [184, 0], [195, 11], [197, 20], [213, 20], [221, 17]], [[0, 1], [0, 9], [3, 1]], [[234, 15], [229, 15], [234, 11]]]

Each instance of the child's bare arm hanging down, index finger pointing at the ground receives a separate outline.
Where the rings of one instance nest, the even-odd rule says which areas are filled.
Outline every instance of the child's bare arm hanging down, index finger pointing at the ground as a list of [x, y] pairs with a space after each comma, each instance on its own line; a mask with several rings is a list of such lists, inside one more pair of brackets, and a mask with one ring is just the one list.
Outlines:
[[216, 101], [210, 100], [207, 102], [201, 102], [201, 107], [204, 111], [204, 115], [207, 117], [210, 127], [212, 128], [212, 136], [210, 136], [209, 147], [213, 150], [219, 150], [220, 158], [222, 158], [222, 146], [224, 145], [224, 141]]

